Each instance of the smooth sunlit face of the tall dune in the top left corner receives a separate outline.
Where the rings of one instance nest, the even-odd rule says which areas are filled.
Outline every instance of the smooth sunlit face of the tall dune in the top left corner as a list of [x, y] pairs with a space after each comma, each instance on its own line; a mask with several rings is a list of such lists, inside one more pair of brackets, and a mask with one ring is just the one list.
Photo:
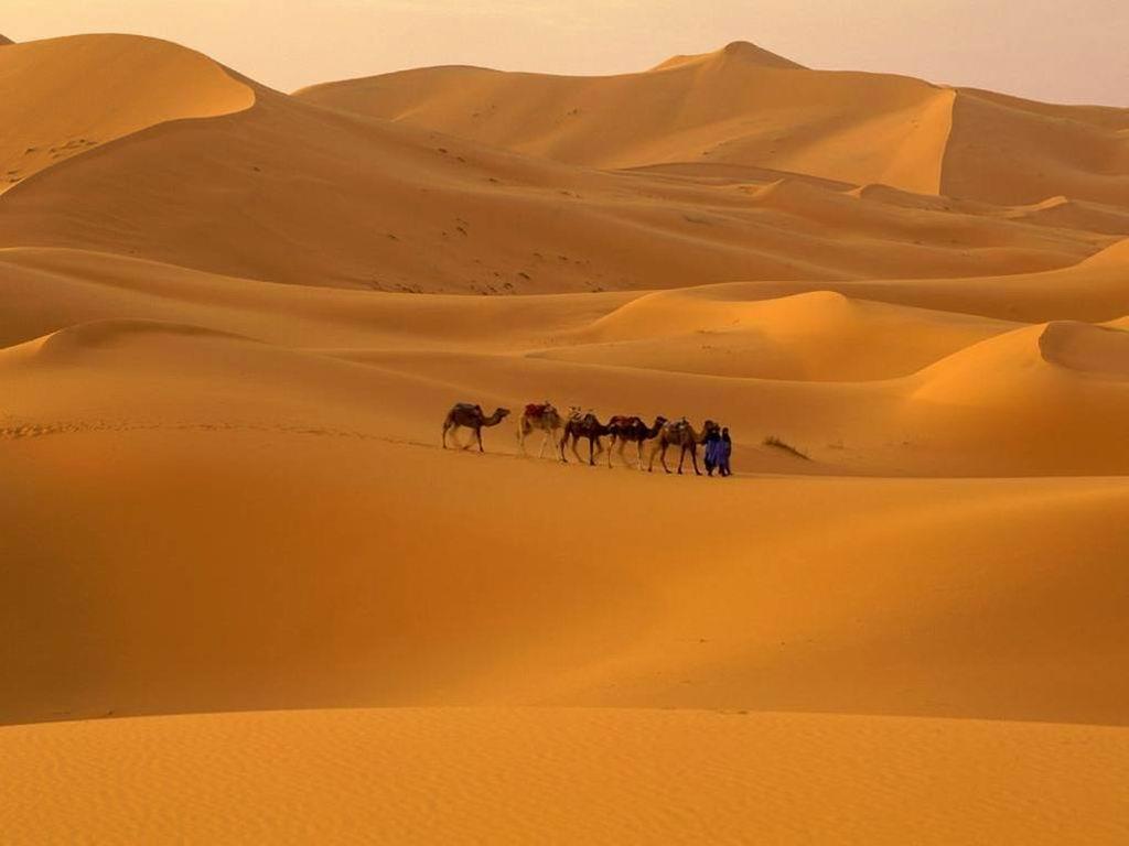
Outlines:
[[250, 108], [251, 88], [207, 56], [151, 38], [82, 35], [0, 53], [0, 192], [166, 121]]

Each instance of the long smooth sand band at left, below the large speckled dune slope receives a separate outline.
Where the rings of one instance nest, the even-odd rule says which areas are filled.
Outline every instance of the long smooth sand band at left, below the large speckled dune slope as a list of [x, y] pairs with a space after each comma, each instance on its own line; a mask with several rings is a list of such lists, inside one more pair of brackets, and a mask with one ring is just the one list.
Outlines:
[[0, 346], [76, 324], [198, 325], [281, 346], [514, 352], [552, 343], [638, 293], [464, 297], [300, 288], [55, 248], [0, 250]]

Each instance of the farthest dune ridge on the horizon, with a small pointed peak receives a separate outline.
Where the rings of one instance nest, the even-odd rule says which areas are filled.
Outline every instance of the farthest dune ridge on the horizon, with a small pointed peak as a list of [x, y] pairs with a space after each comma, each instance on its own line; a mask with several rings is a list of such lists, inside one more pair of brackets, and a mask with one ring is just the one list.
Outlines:
[[1000, 205], [1129, 205], [1129, 109], [807, 70], [751, 44], [620, 77], [429, 68], [297, 96], [605, 168], [724, 162]]

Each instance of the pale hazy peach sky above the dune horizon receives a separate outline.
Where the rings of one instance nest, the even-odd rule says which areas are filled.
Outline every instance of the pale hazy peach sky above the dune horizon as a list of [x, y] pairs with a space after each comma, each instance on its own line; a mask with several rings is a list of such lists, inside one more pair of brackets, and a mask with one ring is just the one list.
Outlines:
[[641, 70], [751, 41], [814, 68], [1129, 106], [1129, 0], [2, 0], [0, 33], [156, 35], [282, 90], [429, 64]]

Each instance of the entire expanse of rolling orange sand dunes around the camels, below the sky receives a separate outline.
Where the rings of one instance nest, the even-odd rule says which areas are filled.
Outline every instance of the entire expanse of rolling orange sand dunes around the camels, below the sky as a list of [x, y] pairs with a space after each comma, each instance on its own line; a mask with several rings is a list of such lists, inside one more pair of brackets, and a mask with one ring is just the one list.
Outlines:
[[1129, 839], [1129, 111], [743, 43], [0, 91], [15, 841]]

